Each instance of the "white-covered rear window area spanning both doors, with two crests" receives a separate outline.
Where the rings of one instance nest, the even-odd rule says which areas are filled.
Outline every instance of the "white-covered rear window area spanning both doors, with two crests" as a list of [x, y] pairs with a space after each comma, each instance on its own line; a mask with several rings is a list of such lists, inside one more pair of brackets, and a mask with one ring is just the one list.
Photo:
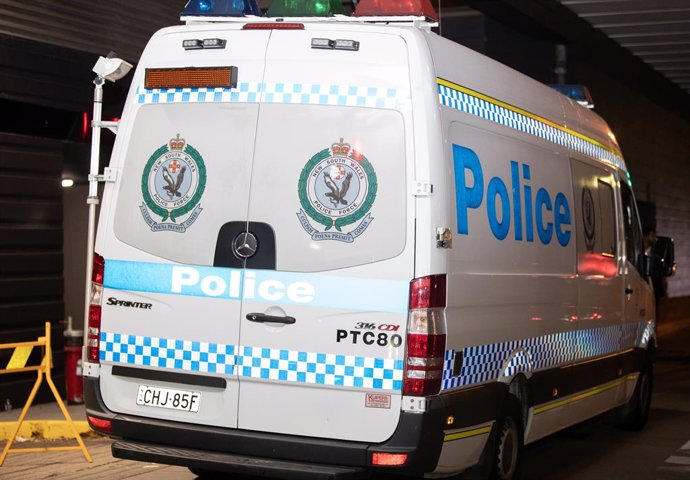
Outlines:
[[247, 221], [250, 231], [265, 226], [254, 232], [257, 255], [272, 249], [264, 268], [325, 271], [395, 257], [407, 228], [404, 130], [395, 110], [145, 105], [125, 153], [115, 234], [196, 265], [237, 256], [221, 231]]

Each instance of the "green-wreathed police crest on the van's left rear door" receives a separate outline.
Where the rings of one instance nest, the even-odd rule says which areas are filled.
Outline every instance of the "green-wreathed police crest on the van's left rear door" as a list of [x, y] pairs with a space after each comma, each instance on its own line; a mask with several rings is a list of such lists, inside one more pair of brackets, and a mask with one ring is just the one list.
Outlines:
[[[206, 166], [201, 154], [177, 134], [153, 152], [141, 177], [139, 209], [154, 232], [184, 233], [201, 214]], [[160, 217], [160, 221], [151, 215]]]

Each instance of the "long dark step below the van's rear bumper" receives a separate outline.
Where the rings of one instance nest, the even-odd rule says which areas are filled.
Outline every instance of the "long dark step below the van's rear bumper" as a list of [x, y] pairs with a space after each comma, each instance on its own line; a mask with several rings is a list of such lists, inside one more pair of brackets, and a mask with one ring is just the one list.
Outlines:
[[252, 458], [228, 453], [162, 447], [138, 442], [115, 442], [112, 446], [112, 452], [114, 457], [127, 460], [251, 474], [285, 480], [355, 480], [369, 477], [369, 473], [361, 468]]

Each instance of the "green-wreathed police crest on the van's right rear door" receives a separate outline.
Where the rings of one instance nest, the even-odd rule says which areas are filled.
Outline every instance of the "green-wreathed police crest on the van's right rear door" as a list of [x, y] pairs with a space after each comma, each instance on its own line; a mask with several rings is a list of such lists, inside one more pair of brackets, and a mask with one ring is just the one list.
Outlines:
[[377, 188], [369, 160], [341, 138], [302, 169], [297, 187], [302, 208], [297, 217], [313, 240], [352, 243], [374, 220], [369, 210]]

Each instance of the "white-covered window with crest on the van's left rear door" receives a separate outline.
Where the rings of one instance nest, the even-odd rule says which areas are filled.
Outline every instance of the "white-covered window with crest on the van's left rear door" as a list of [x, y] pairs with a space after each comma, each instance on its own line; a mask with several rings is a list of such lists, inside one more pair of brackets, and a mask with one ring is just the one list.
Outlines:
[[142, 106], [122, 168], [114, 230], [140, 250], [212, 265], [218, 230], [247, 215], [256, 104]]

